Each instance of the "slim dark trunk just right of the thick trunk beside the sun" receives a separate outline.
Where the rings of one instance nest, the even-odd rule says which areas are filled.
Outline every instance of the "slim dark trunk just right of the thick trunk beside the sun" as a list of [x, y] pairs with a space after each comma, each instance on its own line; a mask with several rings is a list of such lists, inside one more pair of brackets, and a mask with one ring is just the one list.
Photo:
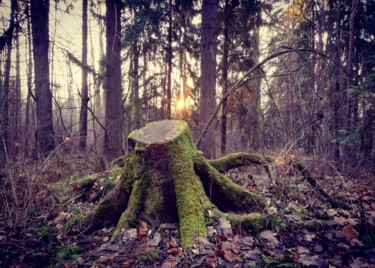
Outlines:
[[[228, 88], [228, 51], [229, 51], [229, 0], [225, 0], [224, 10], [224, 40], [223, 40], [223, 96]], [[221, 154], [224, 155], [227, 148], [227, 99], [224, 99], [221, 108]]]

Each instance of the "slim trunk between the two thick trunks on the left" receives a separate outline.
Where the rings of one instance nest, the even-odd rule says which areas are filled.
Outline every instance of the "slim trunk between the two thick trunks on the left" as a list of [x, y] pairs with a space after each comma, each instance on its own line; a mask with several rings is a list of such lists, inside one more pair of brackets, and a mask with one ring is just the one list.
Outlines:
[[85, 150], [87, 143], [87, 112], [88, 112], [88, 86], [87, 86], [87, 0], [82, 0], [82, 89], [81, 112], [79, 115], [79, 148]]

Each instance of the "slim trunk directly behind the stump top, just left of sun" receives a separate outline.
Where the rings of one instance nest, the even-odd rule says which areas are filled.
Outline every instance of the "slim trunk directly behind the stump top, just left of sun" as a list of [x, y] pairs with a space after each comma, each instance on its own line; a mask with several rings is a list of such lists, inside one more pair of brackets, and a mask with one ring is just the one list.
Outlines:
[[172, 118], [172, 0], [169, 0], [169, 18], [168, 18], [168, 47], [167, 47], [167, 119]]

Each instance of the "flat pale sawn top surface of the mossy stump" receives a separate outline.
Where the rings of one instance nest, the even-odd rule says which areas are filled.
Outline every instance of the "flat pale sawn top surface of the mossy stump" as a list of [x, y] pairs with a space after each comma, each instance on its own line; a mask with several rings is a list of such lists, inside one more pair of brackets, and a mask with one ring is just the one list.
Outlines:
[[148, 124], [129, 135], [129, 139], [144, 144], [163, 144], [181, 132], [186, 123], [181, 120], [163, 120]]

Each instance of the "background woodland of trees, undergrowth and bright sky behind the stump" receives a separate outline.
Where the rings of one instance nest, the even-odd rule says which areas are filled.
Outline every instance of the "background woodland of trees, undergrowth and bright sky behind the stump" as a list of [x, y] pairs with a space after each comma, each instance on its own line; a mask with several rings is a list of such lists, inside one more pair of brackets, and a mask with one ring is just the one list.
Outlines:
[[2, 0], [0, 11], [10, 226], [41, 178], [105, 170], [155, 120], [186, 120], [208, 158], [293, 155], [317, 177], [374, 169], [375, 1]]

